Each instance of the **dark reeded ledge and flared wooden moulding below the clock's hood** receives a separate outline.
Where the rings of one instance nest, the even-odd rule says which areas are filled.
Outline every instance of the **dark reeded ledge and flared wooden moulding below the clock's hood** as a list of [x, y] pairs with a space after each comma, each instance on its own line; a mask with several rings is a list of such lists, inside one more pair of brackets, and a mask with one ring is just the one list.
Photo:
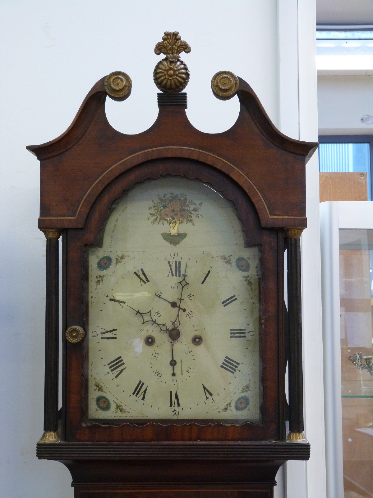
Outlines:
[[37, 445], [39, 459], [67, 466], [74, 498], [272, 498], [280, 466], [309, 455], [283, 442]]

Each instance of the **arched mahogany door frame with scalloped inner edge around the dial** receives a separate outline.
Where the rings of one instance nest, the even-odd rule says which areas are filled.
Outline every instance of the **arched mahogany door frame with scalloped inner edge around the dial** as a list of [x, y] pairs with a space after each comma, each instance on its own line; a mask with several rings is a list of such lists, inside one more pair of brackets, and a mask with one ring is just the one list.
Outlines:
[[[260, 356], [263, 385], [262, 419], [259, 423], [234, 420], [100, 420], [88, 419], [88, 262], [86, 249], [96, 246], [103, 222], [113, 201], [124, 191], [147, 179], [162, 176], [199, 179], [234, 203], [243, 225], [247, 247], [259, 246], [260, 280]], [[130, 234], [128, 235], [130, 236]], [[66, 326], [81, 325], [87, 336], [79, 345], [64, 348], [63, 430], [67, 441], [238, 441], [284, 440], [283, 372], [283, 236], [277, 229], [262, 229], [258, 214], [248, 195], [223, 172], [200, 161], [166, 158], [142, 163], [118, 176], [98, 196], [84, 229], [68, 230], [64, 240], [64, 296]], [[81, 278], [78, 278], [81, 275]], [[66, 362], [66, 364], [65, 364]], [[82, 374], [82, 368], [84, 374]], [[96, 422], [96, 423], [94, 423]], [[241, 424], [241, 425], [238, 425]]]

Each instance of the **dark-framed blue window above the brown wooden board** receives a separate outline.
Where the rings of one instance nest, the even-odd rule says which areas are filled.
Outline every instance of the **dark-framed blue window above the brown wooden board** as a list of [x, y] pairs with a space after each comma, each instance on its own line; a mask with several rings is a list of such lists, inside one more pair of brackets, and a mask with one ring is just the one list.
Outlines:
[[319, 142], [319, 170], [367, 173], [371, 201], [373, 135], [322, 135]]

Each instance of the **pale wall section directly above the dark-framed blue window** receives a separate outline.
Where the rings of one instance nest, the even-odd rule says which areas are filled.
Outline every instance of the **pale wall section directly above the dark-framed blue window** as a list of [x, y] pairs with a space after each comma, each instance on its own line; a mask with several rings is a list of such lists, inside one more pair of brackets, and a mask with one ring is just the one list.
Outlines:
[[320, 135], [373, 134], [373, 76], [318, 76], [317, 97]]

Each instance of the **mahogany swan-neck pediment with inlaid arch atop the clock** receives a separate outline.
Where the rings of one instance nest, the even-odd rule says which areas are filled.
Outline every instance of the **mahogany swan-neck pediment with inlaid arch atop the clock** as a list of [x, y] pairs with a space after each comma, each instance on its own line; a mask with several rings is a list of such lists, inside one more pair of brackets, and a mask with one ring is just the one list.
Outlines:
[[161, 106], [146, 131], [126, 135], [105, 115], [104, 78], [60, 137], [27, 146], [40, 159], [39, 228], [83, 228], [93, 202], [117, 176], [152, 159], [185, 157], [224, 171], [251, 197], [263, 227], [305, 227], [305, 163], [317, 143], [286, 137], [239, 78], [240, 114], [223, 133], [203, 133], [185, 106]]

